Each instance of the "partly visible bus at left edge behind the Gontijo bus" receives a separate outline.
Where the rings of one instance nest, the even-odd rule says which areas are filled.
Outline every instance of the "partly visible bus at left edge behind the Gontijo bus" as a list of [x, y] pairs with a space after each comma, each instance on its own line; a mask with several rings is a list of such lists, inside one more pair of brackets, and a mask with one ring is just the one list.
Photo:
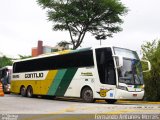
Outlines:
[[4, 66], [0, 68], [0, 81], [3, 85], [4, 93], [10, 93], [12, 66]]

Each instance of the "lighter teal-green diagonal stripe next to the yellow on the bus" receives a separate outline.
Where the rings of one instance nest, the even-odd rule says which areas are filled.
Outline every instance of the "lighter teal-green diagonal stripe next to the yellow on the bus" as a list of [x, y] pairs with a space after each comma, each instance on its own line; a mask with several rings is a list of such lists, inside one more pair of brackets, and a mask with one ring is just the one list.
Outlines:
[[48, 94], [47, 95], [55, 95], [59, 84], [62, 80], [62, 78], [64, 77], [65, 73], [66, 73], [67, 69], [63, 69], [63, 70], [59, 70], [56, 77], [54, 78], [49, 90], [48, 90]]

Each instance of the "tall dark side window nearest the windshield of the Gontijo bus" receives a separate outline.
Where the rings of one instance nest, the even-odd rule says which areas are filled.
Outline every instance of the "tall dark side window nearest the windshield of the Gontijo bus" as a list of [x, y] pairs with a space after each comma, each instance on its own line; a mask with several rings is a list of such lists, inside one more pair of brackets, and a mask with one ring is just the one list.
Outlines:
[[96, 59], [100, 82], [115, 85], [116, 77], [111, 49], [96, 49]]

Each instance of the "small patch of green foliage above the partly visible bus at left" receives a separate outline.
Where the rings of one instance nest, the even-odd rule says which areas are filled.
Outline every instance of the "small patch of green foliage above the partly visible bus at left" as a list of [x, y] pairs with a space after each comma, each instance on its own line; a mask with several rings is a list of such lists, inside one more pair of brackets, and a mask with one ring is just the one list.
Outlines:
[[12, 65], [11, 58], [8, 58], [6, 56], [0, 57], [0, 68], [7, 65]]

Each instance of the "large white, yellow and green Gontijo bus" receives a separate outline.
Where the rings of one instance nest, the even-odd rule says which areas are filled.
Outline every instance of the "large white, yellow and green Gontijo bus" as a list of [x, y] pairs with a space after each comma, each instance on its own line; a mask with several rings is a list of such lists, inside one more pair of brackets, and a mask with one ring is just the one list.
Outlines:
[[84, 102], [136, 100], [144, 96], [142, 72], [138, 54], [129, 49], [66, 50], [14, 62], [11, 91], [27, 97], [78, 97]]

